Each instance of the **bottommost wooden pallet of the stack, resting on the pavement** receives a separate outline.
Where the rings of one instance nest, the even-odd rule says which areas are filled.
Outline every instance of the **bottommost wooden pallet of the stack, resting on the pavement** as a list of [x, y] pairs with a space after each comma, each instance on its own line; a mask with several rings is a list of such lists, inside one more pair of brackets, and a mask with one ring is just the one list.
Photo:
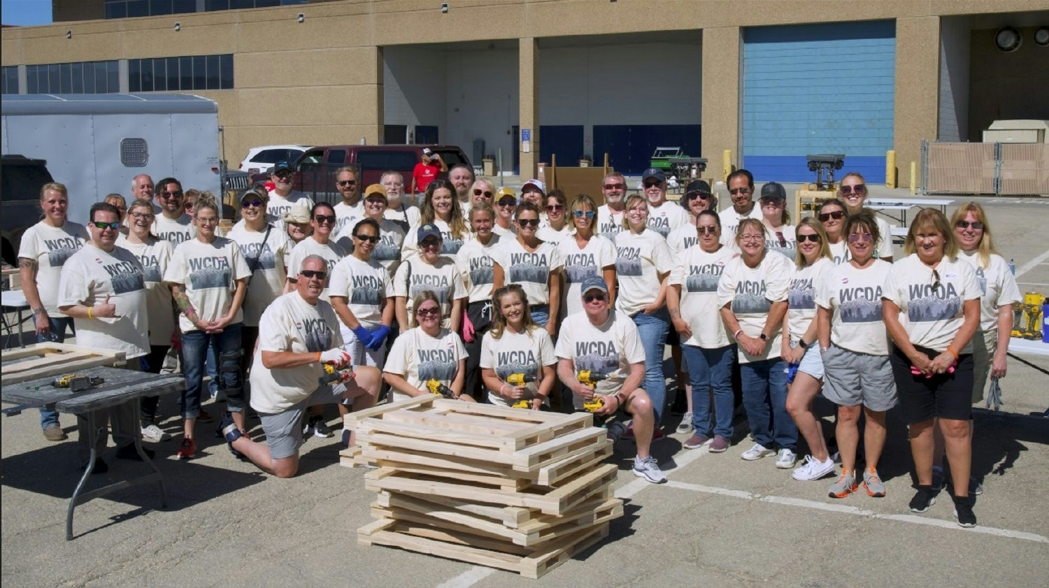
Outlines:
[[520, 547], [392, 519], [373, 521], [357, 531], [365, 545], [389, 545], [410, 551], [505, 569], [538, 579], [608, 536], [608, 523], [578, 530], [550, 542], [542, 549]]

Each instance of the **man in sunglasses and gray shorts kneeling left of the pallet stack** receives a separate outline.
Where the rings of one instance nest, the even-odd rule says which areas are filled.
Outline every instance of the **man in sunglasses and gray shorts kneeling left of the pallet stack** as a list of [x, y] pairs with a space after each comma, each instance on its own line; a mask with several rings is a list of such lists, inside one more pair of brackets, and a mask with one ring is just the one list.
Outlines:
[[[327, 265], [312, 255], [302, 262], [296, 288], [275, 300], [259, 320], [259, 339], [252, 364], [252, 408], [259, 413], [265, 444], [248, 437], [229, 416], [219, 424], [234, 455], [243, 454], [260, 469], [279, 478], [299, 470], [302, 414], [306, 407], [354, 398], [354, 409], [371, 407], [379, 396], [378, 368], [354, 366], [354, 376], [321, 385], [324, 365], [346, 368], [349, 354], [331, 305], [320, 300]], [[229, 414], [229, 413], [227, 413]], [[349, 443], [355, 442], [350, 434]]]

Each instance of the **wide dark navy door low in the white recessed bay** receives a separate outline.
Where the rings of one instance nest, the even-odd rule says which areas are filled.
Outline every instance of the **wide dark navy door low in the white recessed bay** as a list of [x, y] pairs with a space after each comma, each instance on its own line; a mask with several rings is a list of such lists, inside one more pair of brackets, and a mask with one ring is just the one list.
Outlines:
[[700, 157], [700, 125], [594, 125], [594, 165], [604, 162], [617, 172], [640, 175], [657, 147], [680, 147]]

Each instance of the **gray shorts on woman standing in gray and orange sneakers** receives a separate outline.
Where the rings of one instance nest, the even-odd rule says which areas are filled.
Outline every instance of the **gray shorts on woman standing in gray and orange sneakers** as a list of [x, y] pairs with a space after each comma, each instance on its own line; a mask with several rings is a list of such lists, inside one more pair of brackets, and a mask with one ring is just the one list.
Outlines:
[[837, 345], [823, 353], [823, 397], [835, 405], [863, 405], [875, 412], [896, 406], [896, 380], [889, 355], [869, 355]]

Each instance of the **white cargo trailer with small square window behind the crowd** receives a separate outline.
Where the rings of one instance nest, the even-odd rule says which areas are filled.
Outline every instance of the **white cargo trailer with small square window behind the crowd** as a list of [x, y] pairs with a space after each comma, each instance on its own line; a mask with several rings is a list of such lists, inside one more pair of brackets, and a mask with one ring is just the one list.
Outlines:
[[69, 189], [68, 218], [87, 222], [106, 194], [131, 195], [131, 179], [175, 177], [220, 194], [218, 106], [190, 94], [7, 94], [4, 155], [46, 159]]

